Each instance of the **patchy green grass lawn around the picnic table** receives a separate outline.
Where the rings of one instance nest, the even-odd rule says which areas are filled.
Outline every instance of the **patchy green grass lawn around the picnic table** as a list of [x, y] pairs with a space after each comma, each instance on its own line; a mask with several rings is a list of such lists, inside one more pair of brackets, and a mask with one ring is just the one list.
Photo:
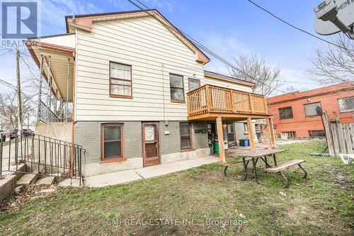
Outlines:
[[260, 171], [258, 185], [234, 178], [241, 164], [228, 178], [208, 164], [130, 184], [57, 189], [2, 213], [0, 235], [354, 235], [354, 166], [309, 156], [324, 149], [321, 141], [282, 148], [279, 163], [305, 159], [309, 173], [305, 180], [295, 167], [285, 170], [289, 189], [277, 174]]

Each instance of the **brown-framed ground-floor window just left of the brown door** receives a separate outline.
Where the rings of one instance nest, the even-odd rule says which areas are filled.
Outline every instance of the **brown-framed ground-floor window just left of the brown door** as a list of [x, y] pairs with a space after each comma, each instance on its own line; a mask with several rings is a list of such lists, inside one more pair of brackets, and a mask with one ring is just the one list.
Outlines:
[[124, 130], [122, 124], [103, 124], [101, 127], [101, 158], [124, 159]]

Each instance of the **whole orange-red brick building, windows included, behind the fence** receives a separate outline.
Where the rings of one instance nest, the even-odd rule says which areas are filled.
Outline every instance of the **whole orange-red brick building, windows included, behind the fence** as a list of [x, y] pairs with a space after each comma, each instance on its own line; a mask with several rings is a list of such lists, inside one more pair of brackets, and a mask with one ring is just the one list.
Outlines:
[[341, 123], [354, 123], [354, 86], [350, 84], [295, 91], [270, 97], [267, 102], [277, 136], [324, 136], [321, 117], [316, 116], [316, 106], [328, 113], [331, 120], [333, 112], [336, 112]]

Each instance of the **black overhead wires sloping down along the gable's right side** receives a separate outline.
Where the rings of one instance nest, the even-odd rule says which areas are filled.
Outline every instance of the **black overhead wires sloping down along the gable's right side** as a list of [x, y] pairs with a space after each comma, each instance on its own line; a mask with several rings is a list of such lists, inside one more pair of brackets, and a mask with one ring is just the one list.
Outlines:
[[[141, 9], [142, 11], [145, 11], [146, 13], [149, 14], [149, 16], [152, 16], [155, 18], [155, 16], [153, 16], [151, 13], [148, 12], [149, 7], [146, 6], [145, 4], [142, 4], [141, 1], [137, 0], [139, 2], [139, 4], [142, 4], [142, 6], [144, 6], [146, 9], [142, 9], [141, 6], [135, 4], [135, 2], [133, 2], [132, 0], [127, 0], [129, 1], [131, 4], [133, 4], [134, 6], [137, 6], [137, 8]], [[156, 20], [160, 21], [159, 19], [156, 18]], [[160, 21], [161, 22], [161, 21]], [[210, 50], [209, 48], [205, 47], [204, 45], [202, 45], [201, 43], [199, 43], [197, 40], [195, 40], [194, 38], [192, 38], [190, 35], [188, 35], [187, 33], [184, 33], [182, 30], [176, 30], [175, 28], [172, 28], [170, 26], [167, 26], [166, 24], [164, 24], [166, 27], [168, 27], [169, 29], [175, 31], [176, 33], [178, 34], [182, 34], [182, 35], [185, 35], [185, 37], [187, 37], [190, 41], [192, 41], [195, 45], [197, 45], [198, 47], [200, 47], [202, 50], [205, 50], [205, 52], [207, 52], [208, 54], [212, 55], [213, 57], [215, 57], [217, 60], [223, 62], [224, 64], [226, 64], [227, 66], [229, 67], [232, 67], [233, 69], [237, 70], [238, 72], [240, 72], [241, 74], [244, 74], [246, 77], [249, 77], [253, 80], [255, 80], [256, 82], [260, 83], [260, 84], [263, 84], [265, 86], [268, 86], [268, 87], [271, 87], [269, 84], [265, 84], [264, 82], [262, 82], [261, 80], [257, 79], [257, 78], [254, 78], [252, 77], [251, 75], [249, 74], [246, 74], [246, 72], [243, 72], [241, 71], [241, 69], [237, 68], [236, 66], [234, 66], [234, 64], [228, 62], [227, 60], [225, 60], [223, 57], [217, 55], [217, 53], [213, 52], [212, 50]], [[274, 89], [276, 91], [280, 91], [282, 93], [286, 93], [286, 91], [282, 91], [280, 89]]]

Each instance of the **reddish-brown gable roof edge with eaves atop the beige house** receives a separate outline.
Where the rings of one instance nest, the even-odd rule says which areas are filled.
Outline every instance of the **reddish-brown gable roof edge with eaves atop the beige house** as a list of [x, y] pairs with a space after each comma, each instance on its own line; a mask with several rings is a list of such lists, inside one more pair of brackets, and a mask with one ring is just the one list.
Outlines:
[[94, 21], [113, 21], [124, 18], [137, 18], [144, 16], [153, 16], [157, 21], [161, 22], [166, 28], [168, 28], [173, 35], [179, 38], [182, 43], [190, 48], [197, 55], [197, 61], [206, 64], [210, 62], [210, 58], [205, 55], [202, 50], [200, 50], [193, 42], [191, 42], [185, 35], [178, 30], [176, 26], [173, 26], [169, 20], [162, 16], [156, 9], [151, 10], [137, 10], [137, 11], [118, 11], [110, 13], [94, 13], [75, 16], [75, 21], [72, 21], [73, 16], [65, 16], [65, 24], [67, 27], [67, 33], [72, 33], [74, 28], [79, 28], [81, 30], [86, 30], [91, 32], [92, 23]]

